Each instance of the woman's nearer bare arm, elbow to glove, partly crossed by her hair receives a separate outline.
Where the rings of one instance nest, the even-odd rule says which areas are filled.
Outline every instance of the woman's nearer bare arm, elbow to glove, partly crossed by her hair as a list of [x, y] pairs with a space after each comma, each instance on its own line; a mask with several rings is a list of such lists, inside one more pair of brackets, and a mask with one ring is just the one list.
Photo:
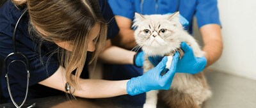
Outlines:
[[[58, 70], [53, 75], [51, 75], [51, 77], [39, 82], [39, 84], [65, 91], [66, 82], [65, 68], [60, 66]], [[73, 95], [83, 98], [106, 98], [127, 94], [127, 80], [105, 81], [97, 79], [79, 79], [79, 83], [81, 89], [76, 89]]]

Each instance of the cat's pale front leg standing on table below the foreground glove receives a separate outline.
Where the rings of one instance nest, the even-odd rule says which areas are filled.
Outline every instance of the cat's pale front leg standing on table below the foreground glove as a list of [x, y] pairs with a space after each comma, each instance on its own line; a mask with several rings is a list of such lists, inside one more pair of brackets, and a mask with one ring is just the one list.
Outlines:
[[148, 91], [143, 108], [156, 108], [158, 90]]

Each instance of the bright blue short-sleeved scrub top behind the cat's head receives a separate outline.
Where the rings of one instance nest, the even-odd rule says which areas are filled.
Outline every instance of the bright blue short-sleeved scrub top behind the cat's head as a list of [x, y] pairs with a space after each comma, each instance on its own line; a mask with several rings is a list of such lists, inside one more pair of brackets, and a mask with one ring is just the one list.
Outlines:
[[[134, 13], [143, 15], [166, 14], [176, 12], [189, 21], [189, 33], [192, 33], [193, 16], [196, 16], [198, 27], [205, 24], [219, 24], [217, 0], [108, 0], [113, 13], [134, 19]], [[179, 4], [179, 6], [177, 5]]]

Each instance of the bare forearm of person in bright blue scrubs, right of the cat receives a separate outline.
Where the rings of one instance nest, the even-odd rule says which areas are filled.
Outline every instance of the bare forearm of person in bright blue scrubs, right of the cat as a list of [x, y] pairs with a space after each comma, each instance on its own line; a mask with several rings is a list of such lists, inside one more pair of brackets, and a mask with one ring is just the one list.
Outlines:
[[204, 41], [205, 58], [207, 66], [217, 61], [223, 50], [223, 42], [221, 37], [220, 26], [216, 24], [208, 24], [200, 28]]

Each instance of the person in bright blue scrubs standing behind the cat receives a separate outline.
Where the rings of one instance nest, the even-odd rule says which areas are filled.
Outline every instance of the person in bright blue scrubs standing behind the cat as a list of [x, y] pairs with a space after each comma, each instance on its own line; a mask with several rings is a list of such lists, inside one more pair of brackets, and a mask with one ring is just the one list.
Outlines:
[[[203, 62], [197, 62], [198, 67], [193, 67], [194, 61], [179, 61], [179, 67], [201, 68], [211, 65], [221, 56], [223, 43], [221, 38], [221, 23], [217, 7], [217, 0], [108, 0], [116, 22], [120, 28], [118, 36], [113, 38], [113, 44], [125, 49], [132, 49], [136, 46], [134, 41], [134, 31], [131, 29], [134, 13], [142, 15], [166, 14], [179, 11], [189, 24], [185, 27], [193, 35], [193, 17], [197, 19], [197, 24], [204, 41], [203, 50], [206, 52]], [[184, 50], [184, 49], [183, 49]], [[193, 51], [193, 50], [190, 50]], [[186, 55], [186, 52], [185, 52]], [[194, 58], [191, 56], [191, 58]], [[182, 58], [184, 59], [184, 58]], [[207, 61], [207, 62], [205, 62]], [[201, 66], [201, 67], [200, 67]], [[182, 68], [180, 69], [182, 70]], [[197, 70], [197, 69], [196, 69]], [[122, 71], [122, 73], [120, 72]], [[186, 70], [183, 70], [186, 71]], [[189, 72], [189, 70], [187, 70]], [[143, 74], [143, 69], [133, 65], [113, 66], [112, 79], [129, 79]], [[138, 97], [137, 97], [138, 98]]]

